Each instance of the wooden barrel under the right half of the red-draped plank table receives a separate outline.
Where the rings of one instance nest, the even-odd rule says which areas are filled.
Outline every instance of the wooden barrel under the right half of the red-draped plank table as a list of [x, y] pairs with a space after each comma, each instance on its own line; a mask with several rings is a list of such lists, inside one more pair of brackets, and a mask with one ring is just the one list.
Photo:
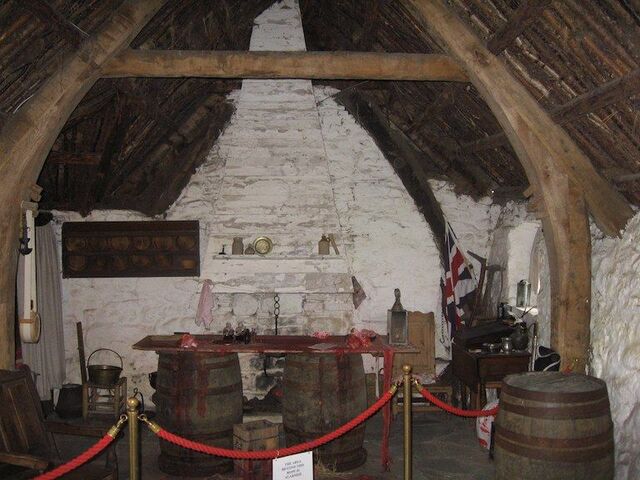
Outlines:
[[[282, 423], [287, 446], [332, 432], [367, 408], [360, 354], [289, 354], [284, 366]], [[337, 471], [362, 465], [365, 425], [316, 450]]]

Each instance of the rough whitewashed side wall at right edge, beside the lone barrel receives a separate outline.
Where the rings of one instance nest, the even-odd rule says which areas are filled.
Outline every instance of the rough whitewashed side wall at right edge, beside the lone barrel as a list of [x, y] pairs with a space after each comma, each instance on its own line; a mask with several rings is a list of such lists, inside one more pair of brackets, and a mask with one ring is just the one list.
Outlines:
[[640, 214], [622, 238], [593, 233], [591, 374], [609, 388], [616, 479], [640, 478]]

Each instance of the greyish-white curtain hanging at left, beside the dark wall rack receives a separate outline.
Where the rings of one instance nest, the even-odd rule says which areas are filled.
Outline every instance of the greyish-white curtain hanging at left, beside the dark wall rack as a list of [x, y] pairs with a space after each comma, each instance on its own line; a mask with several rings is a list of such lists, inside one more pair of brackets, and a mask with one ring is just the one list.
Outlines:
[[40, 398], [51, 398], [51, 389], [65, 378], [64, 332], [60, 262], [53, 227], [36, 227], [36, 278], [38, 312], [42, 331], [38, 343], [22, 343], [22, 357], [37, 374]]

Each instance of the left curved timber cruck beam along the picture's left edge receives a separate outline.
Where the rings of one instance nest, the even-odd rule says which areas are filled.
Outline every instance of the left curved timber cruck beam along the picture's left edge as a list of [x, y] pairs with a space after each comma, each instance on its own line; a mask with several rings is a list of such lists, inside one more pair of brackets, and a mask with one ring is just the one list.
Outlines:
[[67, 118], [100, 78], [100, 66], [128, 47], [166, 0], [126, 0], [99, 32], [69, 55], [0, 132], [0, 368], [14, 365], [14, 309], [20, 203], [40, 174]]

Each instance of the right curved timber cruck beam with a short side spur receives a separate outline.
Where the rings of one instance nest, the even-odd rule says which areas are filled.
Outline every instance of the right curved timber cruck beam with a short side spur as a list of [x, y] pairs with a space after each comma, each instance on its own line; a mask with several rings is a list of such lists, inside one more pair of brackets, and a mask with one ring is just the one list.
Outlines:
[[631, 207], [443, 0], [403, 1], [465, 69], [524, 167], [550, 260], [551, 346], [562, 355], [563, 368], [584, 371], [591, 317], [588, 211], [605, 233], [619, 235]]

